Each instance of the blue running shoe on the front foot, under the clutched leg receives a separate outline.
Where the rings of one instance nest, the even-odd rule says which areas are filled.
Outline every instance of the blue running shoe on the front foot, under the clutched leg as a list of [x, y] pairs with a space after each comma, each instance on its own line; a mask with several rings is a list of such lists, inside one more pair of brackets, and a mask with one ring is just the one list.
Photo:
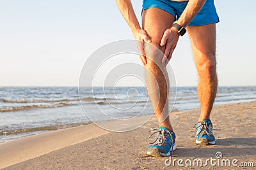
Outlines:
[[[150, 143], [150, 137], [156, 133], [156, 140]], [[169, 131], [165, 127], [159, 127], [158, 131], [153, 132], [148, 137], [148, 144], [150, 145], [148, 146], [147, 154], [153, 157], [169, 157], [171, 152], [176, 149], [175, 138], [173, 131]]]

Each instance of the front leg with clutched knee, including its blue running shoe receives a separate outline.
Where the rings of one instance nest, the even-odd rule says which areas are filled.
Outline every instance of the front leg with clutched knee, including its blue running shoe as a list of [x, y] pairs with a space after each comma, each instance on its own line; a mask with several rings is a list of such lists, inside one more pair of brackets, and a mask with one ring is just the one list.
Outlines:
[[152, 41], [151, 45], [145, 45], [147, 89], [159, 124], [157, 139], [147, 150], [148, 155], [154, 157], [168, 157], [176, 149], [175, 133], [168, 117], [168, 73], [161, 62], [165, 46], [160, 46], [164, 31], [172, 26], [173, 21], [174, 17], [164, 10], [149, 8], [143, 11], [143, 29]]

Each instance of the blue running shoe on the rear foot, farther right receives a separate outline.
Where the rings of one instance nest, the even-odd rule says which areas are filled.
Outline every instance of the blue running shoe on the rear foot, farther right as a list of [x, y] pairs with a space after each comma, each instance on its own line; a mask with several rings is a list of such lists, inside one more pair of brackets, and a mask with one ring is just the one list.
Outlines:
[[198, 145], [214, 145], [215, 138], [212, 134], [212, 122], [210, 119], [198, 122], [194, 125], [197, 129], [196, 144]]

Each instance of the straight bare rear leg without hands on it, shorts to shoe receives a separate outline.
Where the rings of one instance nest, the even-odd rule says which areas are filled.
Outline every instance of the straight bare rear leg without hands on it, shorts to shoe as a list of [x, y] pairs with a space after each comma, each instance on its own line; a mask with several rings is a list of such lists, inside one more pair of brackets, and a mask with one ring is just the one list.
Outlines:
[[198, 97], [201, 114], [198, 121], [210, 118], [216, 97], [218, 78], [216, 73], [216, 25], [189, 26], [196, 69], [198, 71]]

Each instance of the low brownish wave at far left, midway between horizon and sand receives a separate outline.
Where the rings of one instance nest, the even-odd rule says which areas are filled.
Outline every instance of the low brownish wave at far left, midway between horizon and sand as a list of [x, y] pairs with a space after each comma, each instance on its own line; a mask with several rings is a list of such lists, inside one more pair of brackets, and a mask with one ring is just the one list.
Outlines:
[[71, 104], [68, 104], [68, 103], [34, 104], [34, 105], [28, 105], [28, 106], [6, 107], [6, 108], [0, 108], [0, 112], [30, 110], [33, 108], [60, 108], [65, 106], [71, 106]]

